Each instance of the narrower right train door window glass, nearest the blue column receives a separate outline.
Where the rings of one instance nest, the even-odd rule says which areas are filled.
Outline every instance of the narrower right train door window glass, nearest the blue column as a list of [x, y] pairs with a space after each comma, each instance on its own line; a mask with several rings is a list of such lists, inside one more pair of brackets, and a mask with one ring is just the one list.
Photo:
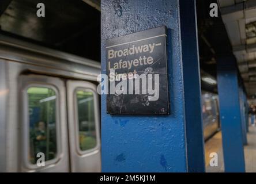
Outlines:
[[76, 98], [80, 150], [91, 150], [97, 144], [93, 93], [89, 90], [77, 90]]

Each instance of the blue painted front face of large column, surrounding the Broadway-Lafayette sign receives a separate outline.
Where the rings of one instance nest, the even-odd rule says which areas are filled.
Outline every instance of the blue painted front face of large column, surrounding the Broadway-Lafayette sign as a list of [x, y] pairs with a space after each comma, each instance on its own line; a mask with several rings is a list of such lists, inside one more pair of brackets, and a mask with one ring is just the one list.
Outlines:
[[101, 95], [103, 172], [186, 172], [185, 108], [178, 0], [101, 0], [101, 67], [106, 39], [165, 25], [169, 116], [107, 114]]

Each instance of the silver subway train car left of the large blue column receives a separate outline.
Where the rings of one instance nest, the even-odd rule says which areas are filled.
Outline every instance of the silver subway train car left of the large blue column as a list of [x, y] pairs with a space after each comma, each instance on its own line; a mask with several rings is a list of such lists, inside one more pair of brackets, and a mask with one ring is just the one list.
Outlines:
[[0, 36], [0, 171], [100, 172], [98, 74], [92, 60]]

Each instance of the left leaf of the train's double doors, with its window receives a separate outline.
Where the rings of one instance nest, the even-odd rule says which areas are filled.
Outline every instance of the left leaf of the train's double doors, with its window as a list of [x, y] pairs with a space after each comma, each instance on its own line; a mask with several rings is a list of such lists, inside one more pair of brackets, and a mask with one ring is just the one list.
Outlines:
[[21, 75], [20, 79], [20, 170], [68, 172], [65, 81], [43, 75]]

